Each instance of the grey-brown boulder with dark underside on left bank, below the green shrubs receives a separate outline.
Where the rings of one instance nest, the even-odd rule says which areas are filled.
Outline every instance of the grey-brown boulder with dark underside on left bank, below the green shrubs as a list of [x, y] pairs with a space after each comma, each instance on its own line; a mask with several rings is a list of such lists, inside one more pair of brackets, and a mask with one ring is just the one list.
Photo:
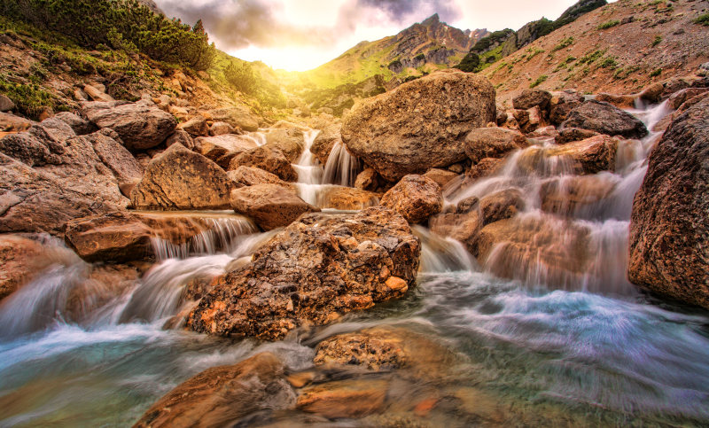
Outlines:
[[112, 128], [129, 150], [145, 150], [165, 141], [177, 121], [151, 101], [84, 103], [86, 117], [99, 128]]

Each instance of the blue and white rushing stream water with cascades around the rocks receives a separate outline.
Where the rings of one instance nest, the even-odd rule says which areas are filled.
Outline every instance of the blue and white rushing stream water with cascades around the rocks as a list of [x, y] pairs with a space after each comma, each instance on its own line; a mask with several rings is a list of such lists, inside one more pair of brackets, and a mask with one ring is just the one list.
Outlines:
[[[651, 128], [664, 108], [635, 113]], [[307, 133], [307, 147], [311, 138]], [[164, 329], [180, 325], [191, 284], [247, 262], [272, 236], [243, 220], [214, 214], [213, 230], [187, 245], [156, 241], [160, 261], [122, 288], [89, 281], [100, 267], [57, 244], [51, 267], [0, 304], [0, 426], [127, 426], [201, 370], [264, 350], [291, 370], [307, 369], [317, 338], [381, 324], [423, 326], [463, 353], [460, 377], [434, 386], [494, 397], [506, 424], [709, 424], [709, 315], [653, 300], [625, 279], [629, 209], [657, 138], [621, 146], [616, 172], [588, 178], [604, 195], [586, 206], [542, 209], [541, 186], [563, 189], [574, 179], [564, 159], [535, 155], [534, 168], [520, 171], [528, 165], [521, 160], [550, 150], [549, 142], [513, 154], [495, 177], [448, 190], [448, 203], [455, 203], [519, 189], [526, 207], [514, 221], [532, 225], [541, 250], [510, 268], [501, 244], [479, 264], [463, 245], [417, 226], [423, 243], [417, 288], [305, 340], [294, 335], [260, 345]], [[316, 168], [308, 170], [308, 163], [317, 167], [314, 158], [301, 158], [303, 185], [319, 174], [310, 174]], [[580, 271], [544, 259], [549, 245], [573, 246], [570, 230], [581, 230], [588, 245]], [[76, 296], [85, 303], [80, 310]], [[424, 386], [421, 380], [409, 389]], [[451, 413], [432, 424], [472, 422]]]

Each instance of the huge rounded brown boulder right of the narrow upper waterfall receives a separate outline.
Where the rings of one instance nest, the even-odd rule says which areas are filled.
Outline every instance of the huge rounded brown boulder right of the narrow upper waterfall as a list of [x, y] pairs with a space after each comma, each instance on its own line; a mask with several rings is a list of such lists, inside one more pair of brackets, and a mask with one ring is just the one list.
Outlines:
[[495, 121], [495, 88], [446, 70], [354, 105], [342, 125], [347, 148], [390, 182], [465, 159], [464, 138]]

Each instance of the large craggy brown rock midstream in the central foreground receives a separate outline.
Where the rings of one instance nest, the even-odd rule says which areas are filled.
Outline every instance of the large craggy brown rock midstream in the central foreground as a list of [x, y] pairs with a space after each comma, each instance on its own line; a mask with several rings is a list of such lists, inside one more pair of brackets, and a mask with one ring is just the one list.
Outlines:
[[421, 245], [388, 208], [306, 214], [243, 268], [222, 276], [196, 307], [194, 331], [280, 339], [303, 323], [401, 297], [414, 284]]

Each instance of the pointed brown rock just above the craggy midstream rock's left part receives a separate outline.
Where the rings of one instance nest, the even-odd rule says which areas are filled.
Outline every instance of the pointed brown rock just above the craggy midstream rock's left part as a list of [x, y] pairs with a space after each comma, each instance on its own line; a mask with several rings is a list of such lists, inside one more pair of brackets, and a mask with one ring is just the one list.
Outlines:
[[231, 206], [248, 215], [262, 230], [273, 230], [294, 222], [301, 214], [320, 211], [317, 206], [286, 191], [278, 184], [256, 184], [231, 192]]

